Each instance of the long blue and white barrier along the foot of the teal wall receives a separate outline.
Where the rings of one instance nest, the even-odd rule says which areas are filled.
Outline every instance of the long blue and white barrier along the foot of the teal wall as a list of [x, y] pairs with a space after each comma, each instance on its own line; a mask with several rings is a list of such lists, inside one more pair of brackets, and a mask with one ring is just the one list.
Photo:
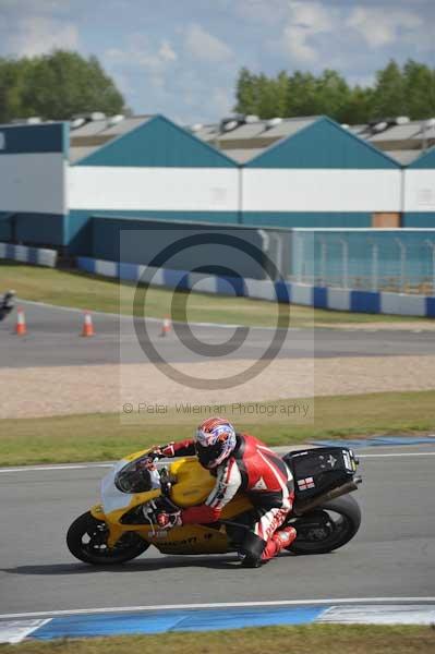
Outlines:
[[316, 308], [331, 308], [355, 313], [435, 317], [435, 296], [388, 293], [385, 291], [354, 291], [331, 289], [304, 283], [217, 277], [167, 268], [146, 268], [137, 264], [120, 264], [88, 257], [78, 257], [82, 270], [128, 281], [140, 281], [145, 269], [152, 286], [192, 290], [218, 295], [252, 298], [290, 302]]

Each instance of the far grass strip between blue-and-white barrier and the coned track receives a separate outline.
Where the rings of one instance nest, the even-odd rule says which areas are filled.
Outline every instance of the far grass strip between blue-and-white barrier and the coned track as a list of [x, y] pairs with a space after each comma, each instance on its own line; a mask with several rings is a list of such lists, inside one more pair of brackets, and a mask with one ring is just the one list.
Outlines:
[[[12, 288], [23, 300], [47, 302], [60, 306], [73, 306], [89, 311], [130, 314], [135, 286], [120, 284], [117, 280], [86, 275], [80, 271], [52, 270], [11, 262], [0, 262], [0, 288]], [[121, 289], [121, 293], [120, 293]], [[170, 290], [150, 288], [146, 294], [145, 313], [162, 318], [171, 315], [173, 293]], [[186, 293], [176, 293], [177, 305], [183, 303]], [[276, 304], [246, 298], [225, 298], [206, 293], [190, 293], [188, 318], [200, 323], [229, 323], [252, 326], [275, 326]], [[173, 314], [172, 314], [173, 315]], [[400, 316], [379, 316], [338, 311], [313, 310], [291, 306], [291, 327], [339, 326], [340, 323], [400, 323]], [[406, 322], [421, 318], [406, 318]]]

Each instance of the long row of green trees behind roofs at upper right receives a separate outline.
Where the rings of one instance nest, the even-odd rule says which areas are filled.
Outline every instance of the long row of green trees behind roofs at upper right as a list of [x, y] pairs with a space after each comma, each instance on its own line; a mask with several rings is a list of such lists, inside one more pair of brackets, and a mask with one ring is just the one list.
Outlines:
[[391, 60], [376, 72], [372, 86], [350, 85], [337, 71], [319, 75], [281, 71], [276, 76], [241, 69], [234, 111], [267, 119], [326, 114], [358, 124], [380, 118], [435, 117], [435, 69], [409, 59], [402, 66]]

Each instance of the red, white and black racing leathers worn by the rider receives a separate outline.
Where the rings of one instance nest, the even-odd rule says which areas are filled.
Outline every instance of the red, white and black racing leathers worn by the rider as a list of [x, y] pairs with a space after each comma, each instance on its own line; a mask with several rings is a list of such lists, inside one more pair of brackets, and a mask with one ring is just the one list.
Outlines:
[[[170, 444], [161, 451], [165, 456], [192, 456], [195, 455], [195, 441], [188, 439]], [[267, 560], [290, 545], [295, 532], [290, 538], [282, 533], [282, 542], [278, 533], [274, 537], [291, 510], [294, 498], [293, 479], [282, 459], [254, 436], [237, 434], [234, 450], [213, 474], [216, 474], [214, 489], [204, 505], [182, 511], [183, 524], [216, 522], [235, 493], [243, 491], [255, 509], [251, 528], [257, 541], [254, 548], [258, 556]]]

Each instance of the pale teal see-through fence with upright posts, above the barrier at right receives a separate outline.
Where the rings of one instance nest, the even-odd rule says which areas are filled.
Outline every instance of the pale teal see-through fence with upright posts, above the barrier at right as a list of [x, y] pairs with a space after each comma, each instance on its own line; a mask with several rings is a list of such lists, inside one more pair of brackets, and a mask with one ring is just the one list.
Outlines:
[[303, 230], [289, 279], [318, 287], [435, 295], [435, 230]]

